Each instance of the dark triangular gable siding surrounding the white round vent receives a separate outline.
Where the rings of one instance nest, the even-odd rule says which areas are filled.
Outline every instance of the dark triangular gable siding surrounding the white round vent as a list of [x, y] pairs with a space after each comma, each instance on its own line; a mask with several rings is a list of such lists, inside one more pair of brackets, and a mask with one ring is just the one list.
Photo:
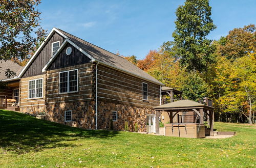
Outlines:
[[[68, 47], [72, 48], [72, 52], [70, 55], [66, 54], [66, 49]], [[84, 55], [82, 52], [76, 49], [73, 45], [68, 43], [57, 55], [57, 58], [53, 61], [48, 70], [85, 64], [89, 63], [90, 61], [91, 59], [89, 59], [86, 55]]]

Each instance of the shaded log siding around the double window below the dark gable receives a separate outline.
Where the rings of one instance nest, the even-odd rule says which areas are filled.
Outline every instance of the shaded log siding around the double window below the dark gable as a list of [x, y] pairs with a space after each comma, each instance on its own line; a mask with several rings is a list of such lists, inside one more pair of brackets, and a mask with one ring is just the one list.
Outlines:
[[[59, 72], [78, 69], [78, 92], [59, 93]], [[66, 68], [47, 71], [47, 99], [48, 104], [59, 102], [91, 101], [93, 99], [93, 64], [81, 64]]]

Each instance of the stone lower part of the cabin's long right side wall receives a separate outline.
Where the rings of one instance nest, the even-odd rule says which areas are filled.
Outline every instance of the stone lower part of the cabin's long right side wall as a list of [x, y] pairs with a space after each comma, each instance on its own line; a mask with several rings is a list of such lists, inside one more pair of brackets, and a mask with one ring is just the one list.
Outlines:
[[129, 131], [135, 131], [135, 124], [138, 124], [138, 131], [146, 131], [146, 114], [155, 114], [152, 108], [98, 102], [98, 129], [110, 129], [112, 111], [117, 111], [117, 121], [113, 122], [114, 130], [124, 130], [125, 122], [128, 122]]

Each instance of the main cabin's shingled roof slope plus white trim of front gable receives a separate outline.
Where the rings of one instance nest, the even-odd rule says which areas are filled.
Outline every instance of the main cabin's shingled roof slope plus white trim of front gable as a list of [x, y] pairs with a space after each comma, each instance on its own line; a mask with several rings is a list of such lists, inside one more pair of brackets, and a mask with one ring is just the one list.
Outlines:
[[[131, 74], [133, 76], [137, 76], [142, 79], [151, 81], [153, 83], [157, 83], [158, 85], [162, 85], [162, 86], [164, 85], [163, 83], [161, 83], [160, 81], [155, 79], [153, 76], [147, 74], [146, 72], [144, 72], [143, 70], [141, 70], [140, 68], [138, 68], [137, 66], [132, 64], [131, 62], [125, 60], [124, 58], [122, 58], [110, 51], [107, 51], [103, 48], [100, 48], [100, 47], [94, 45], [94, 44], [84, 41], [84, 40], [82, 40], [76, 36], [73, 36], [65, 31], [62, 31], [60, 29], [54, 28], [53, 30], [55, 30], [57, 33], [59, 33], [60, 35], [62, 35], [63, 37], [66, 38], [66, 40], [62, 43], [63, 45], [60, 46], [60, 48], [57, 50], [57, 52], [59, 52], [62, 49], [62, 47], [65, 46], [64, 43], [69, 42], [74, 47], [79, 49], [81, 52], [86, 54], [87, 57], [89, 57], [92, 60], [92, 62], [94, 62], [94, 61], [99, 62], [100, 64], [118, 69], [120, 71]], [[47, 68], [50, 66], [50, 64], [54, 61], [54, 59], [57, 55], [57, 52], [49, 60], [47, 65], [42, 69], [43, 72], [45, 70], [47, 70]]]

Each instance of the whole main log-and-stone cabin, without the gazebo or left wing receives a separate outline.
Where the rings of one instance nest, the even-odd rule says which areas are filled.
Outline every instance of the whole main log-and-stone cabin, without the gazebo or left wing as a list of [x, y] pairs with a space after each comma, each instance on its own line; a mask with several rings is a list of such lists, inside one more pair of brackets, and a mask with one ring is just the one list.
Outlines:
[[[147, 130], [161, 86], [118, 55], [53, 28], [15, 80], [22, 113], [83, 129]], [[13, 88], [14, 89], [14, 88]], [[150, 132], [155, 132], [154, 128]]]

